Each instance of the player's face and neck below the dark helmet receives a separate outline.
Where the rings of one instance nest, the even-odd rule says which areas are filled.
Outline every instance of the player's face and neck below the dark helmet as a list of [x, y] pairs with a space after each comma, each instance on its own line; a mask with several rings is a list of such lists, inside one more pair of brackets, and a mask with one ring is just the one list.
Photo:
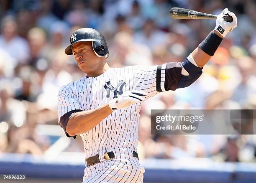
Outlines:
[[97, 76], [105, 64], [105, 57], [98, 57], [94, 53], [91, 41], [75, 43], [72, 47], [72, 53], [78, 67], [88, 76]]

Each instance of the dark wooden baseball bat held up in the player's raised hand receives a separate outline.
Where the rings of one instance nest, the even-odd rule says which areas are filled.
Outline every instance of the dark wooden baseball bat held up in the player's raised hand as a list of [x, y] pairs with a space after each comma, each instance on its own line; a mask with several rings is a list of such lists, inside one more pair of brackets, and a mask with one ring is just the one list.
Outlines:
[[[208, 13], [202, 13], [195, 10], [189, 10], [186, 8], [171, 8], [170, 16], [175, 19], [216, 19], [217, 15], [212, 15]], [[232, 22], [233, 18], [230, 15], [224, 15], [224, 20], [227, 22]]]

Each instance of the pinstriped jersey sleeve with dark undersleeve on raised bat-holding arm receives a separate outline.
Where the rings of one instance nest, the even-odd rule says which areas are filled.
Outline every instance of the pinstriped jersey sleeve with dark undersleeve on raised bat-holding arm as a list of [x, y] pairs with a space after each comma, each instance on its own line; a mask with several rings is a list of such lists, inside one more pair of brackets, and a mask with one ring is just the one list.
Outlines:
[[144, 91], [148, 97], [168, 90], [176, 90], [181, 78], [181, 63], [170, 62], [158, 66], [133, 66], [133, 75], [136, 87]]

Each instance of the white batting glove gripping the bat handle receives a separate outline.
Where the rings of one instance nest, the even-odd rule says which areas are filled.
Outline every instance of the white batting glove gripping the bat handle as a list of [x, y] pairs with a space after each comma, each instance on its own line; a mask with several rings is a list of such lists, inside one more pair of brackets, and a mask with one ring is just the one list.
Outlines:
[[[233, 18], [233, 22], [226, 22], [224, 20], [225, 15], [230, 15]], [[220, 15], [218, 15], [216, 19], [216, 27], [214, 30], [217, 30], [223, 38], [227, 35], [229, 31], [232, 31], [233, 28], [236, 28], [237, 26], [237, 20], [236, 15], [230, 11], [228, 11], [228, 8], [225, 8]]]

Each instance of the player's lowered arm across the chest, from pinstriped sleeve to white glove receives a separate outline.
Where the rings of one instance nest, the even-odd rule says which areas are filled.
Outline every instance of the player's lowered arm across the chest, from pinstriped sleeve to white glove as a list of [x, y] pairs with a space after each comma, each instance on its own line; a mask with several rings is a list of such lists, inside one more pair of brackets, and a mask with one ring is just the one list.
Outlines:
[[71, 86], [63, 86], [58, 94], [59, 125], [67, 137], [82, 134], [92, 130], [115, 109], [127, 108], [136, 102], [143, 101], [146, 93], [143, 91], [125, 91], [108, 104], [91, 110], [83, 110]]

